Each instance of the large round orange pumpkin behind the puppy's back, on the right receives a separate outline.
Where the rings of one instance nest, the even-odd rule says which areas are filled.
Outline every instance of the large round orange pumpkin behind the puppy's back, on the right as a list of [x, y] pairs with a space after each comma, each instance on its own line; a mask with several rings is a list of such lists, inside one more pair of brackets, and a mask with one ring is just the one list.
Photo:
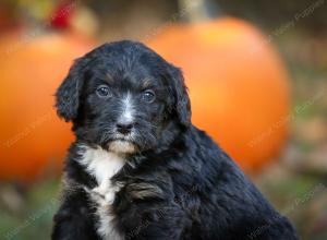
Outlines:
[[171, 25], [148, 45], [182, 68], [193, 123], [245, 171], [277, 156], [288, 136], [289, 80], [278, 53], [255, 27], [230, 17]]

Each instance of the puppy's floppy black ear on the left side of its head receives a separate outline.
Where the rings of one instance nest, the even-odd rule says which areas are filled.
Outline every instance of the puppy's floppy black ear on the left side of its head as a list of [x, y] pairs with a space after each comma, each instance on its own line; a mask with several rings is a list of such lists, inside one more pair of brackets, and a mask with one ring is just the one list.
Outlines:
[[56, 93], [57, 112], [66, 122], [77, 117], [85, 67], [84, 58], [76, 59]]

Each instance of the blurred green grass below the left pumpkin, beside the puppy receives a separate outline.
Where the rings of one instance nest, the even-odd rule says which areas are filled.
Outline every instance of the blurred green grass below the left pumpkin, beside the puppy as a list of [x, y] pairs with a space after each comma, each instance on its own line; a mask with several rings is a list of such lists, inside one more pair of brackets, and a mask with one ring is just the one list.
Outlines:
[[[1, 194], [11, 195], [0, 205], [0, 239], [32, 240], [49, 239], [52, 226], [52, 216], [58, 208], [58, 180], [46, 180], [23, 190], [7, 185]], [[8, 202], [8, 203], [5, 203]]]

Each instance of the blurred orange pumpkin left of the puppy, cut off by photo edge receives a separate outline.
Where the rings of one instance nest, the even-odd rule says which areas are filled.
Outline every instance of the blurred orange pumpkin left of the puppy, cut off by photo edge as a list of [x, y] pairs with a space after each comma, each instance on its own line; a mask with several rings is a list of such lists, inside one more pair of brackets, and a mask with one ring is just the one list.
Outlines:
[[58, 170], [72, 141], [53, 94], [73, 59], [93, 44], [73, 35], [14, 34], [0, 41], [0, 179], [32, 180]]

